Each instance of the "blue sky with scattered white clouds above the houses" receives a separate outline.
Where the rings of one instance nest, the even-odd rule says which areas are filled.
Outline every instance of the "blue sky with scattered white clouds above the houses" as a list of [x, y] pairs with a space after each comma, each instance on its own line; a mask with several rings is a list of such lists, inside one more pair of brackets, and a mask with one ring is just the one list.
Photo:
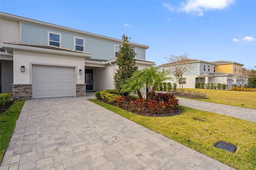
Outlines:
[[255, 0], [12, 1], [0, 11], [148, 45], [157, 65], [188, 53], [191, 59], [256, 66]]

